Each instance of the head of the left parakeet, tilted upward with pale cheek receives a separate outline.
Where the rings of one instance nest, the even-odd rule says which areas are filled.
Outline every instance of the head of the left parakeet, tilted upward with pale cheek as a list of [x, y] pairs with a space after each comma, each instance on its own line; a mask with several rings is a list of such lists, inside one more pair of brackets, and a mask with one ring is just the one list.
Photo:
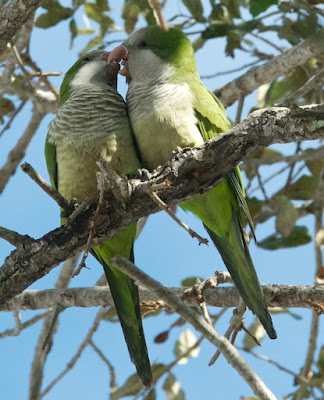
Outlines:
[[81, 57], [64, 76], [60, 89], [60, 106], [70, 97], [73, 89], [91, 86], [117, 88], [117, 62], [107, 64], [109, 52], [94, 50]]

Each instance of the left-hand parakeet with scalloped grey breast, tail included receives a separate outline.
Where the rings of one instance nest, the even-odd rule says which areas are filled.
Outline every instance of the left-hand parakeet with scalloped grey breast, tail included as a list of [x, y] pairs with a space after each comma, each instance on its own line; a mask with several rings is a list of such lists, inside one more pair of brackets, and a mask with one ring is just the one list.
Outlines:
[[[127, 107], [117, 92], [118, 63], [108, 66], [109, 53], [92, 51], [65, 74], [59, 109], [50, 123], [45, 145], [52, 185], [78, 203], [97, 196], [97, 161], [104, 159], [119, 175], [140, 168]], [[94, 200], [95, 201], [95, 200]], [[145, 386], [152, 374], [148, 359], [138, 289], [134, 281], [110, 265], [115, 255], [133, 261], [136, 223], [92, 249], [102, 264], [132, 361]]]

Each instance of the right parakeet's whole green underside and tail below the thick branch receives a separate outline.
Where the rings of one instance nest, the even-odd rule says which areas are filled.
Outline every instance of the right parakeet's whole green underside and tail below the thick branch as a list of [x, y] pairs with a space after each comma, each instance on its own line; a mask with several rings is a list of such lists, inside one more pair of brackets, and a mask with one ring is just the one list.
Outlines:
[[244, 238], [237, 199], [227, 180], [179, 205], [203, 222], [246, 305], [275, 339], [277, 334]]

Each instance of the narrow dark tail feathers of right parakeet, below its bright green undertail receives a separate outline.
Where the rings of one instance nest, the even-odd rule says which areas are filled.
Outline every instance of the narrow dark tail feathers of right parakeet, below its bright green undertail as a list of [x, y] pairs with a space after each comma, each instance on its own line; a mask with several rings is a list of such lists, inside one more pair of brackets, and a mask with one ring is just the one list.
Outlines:
[[253, 314], [259, 318], [270, 339], [276, 339], [277, 333], [273, 327], [272, 319], [264, 300], [262, 288], [255, 272], [248, 246], [244, 239], [243, 230], [235, 211], [232, 211], [233, 226], [230, 230], [229, 236], [235, 235], [235, 251], [233, 251], [233, 248], [230, 246], [231, 241], [218, 237], [206, 225], [204, 226], [217, 247], [217, 250], [220, 252], [222, 259], [246, 305]]

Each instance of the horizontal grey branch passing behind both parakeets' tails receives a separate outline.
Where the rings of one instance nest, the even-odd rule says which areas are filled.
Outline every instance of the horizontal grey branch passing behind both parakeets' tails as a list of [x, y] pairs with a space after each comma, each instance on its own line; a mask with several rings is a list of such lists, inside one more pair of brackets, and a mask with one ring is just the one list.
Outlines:
[[[169, 287], [171, 293], [182, 297], [187, 288]], [[324, 303], [323, 286], [302, 285], [263, 285], [269, 307], [312, 308], [311, 302]], [[143, 302], [159, 301], [153, 292], [139, 288]], [[188, 305], [196, 306], [196, 302], [186, 296]], [[204, 291], [204, 299], [213, 307], [236, 307], [240, 296], [235, 286], [216, 287]], [[0, 311], [39, 310], [42, 308], [97, 307], [112, 306], [113, 300], [108, 287], [95, 286], [71, 289], [25, 290], [7, 303], [0, 305]]]

